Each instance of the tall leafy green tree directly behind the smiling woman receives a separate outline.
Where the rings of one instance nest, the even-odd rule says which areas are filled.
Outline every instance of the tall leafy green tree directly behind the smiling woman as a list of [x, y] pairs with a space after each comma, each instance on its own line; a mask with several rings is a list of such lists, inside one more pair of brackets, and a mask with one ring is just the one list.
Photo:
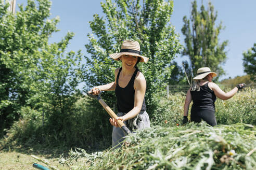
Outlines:
[[[147, 81], [146, 104], [149, 114], [157, 108], [158, 92], [164, 88], [169, 78], [173, 60], [181, 49], [174, 27], [170, 24], [173, 1], [128, 0], [101, 3], [105, 19], [94, 15], [89, 22], [92, 33], [88, 34], [89, 44], [85, 47], [91, 54], [86, 57], [87, 86], [96, 86], [114, 81], [114, 69], [120, 62], [112, 60], [108, 54], [119, 52], [125, 39], [137, 40], [142, 55], [148, 63], [139, 64]], [[94, 37], [96, 36], [96, 37]], [[113, 93], [109, 93], [109, 103], [113, 104]], [[107, 98], [107, 96], [106, 96]]]

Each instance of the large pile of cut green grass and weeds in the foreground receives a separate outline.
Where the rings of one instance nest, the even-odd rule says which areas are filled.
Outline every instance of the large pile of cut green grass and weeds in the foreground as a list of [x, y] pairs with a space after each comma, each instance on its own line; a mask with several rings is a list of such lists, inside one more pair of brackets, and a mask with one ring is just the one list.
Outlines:
[[138, 131], [121, 148], [83, 149], [61, 159], [72, 169], [256, 169], [256, 128], [205, 122]]

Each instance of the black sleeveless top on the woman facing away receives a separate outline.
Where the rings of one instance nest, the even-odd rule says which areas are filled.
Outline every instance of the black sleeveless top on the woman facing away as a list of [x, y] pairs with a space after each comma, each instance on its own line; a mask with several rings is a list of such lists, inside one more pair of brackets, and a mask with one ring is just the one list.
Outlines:
[[215, 111], [214, 102], [216, 101], [216, 95], [208, 87], [208, 83], [204, 84], [203, 86], [200, 86], [200, 91], [190, 91], [193, 100], [191, 112], [201, 109]]

